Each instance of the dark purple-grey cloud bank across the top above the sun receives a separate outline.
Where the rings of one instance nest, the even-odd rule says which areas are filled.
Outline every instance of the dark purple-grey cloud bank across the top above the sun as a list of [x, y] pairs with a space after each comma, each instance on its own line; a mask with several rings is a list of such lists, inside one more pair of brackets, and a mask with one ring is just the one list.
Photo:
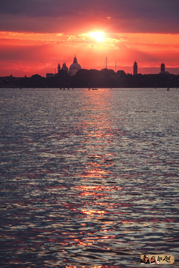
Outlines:
[[178, 33], [178, 0], [6, 0], [4, 31], [58, 32], [92, 27], [116, 32]]

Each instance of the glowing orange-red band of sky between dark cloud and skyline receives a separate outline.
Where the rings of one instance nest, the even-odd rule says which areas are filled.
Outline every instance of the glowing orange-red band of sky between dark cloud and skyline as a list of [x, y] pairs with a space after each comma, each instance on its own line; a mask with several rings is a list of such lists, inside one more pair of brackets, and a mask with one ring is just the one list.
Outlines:
[[[69, 67], [74, 55], [82, 68], [108, 65], [132, 66], [136, 59], [140, 67], [159, 67], [164, 61], [167, 67], [178, 67], [179, 34], [107, 33], [98, 42], [89, 32], [33, 33], [0, 32], [1, 76], [13, 70], [18, 75], [54, 72], [57, 64], [65, 61]], [[10, 67], [9, 67], [10, 66]]]

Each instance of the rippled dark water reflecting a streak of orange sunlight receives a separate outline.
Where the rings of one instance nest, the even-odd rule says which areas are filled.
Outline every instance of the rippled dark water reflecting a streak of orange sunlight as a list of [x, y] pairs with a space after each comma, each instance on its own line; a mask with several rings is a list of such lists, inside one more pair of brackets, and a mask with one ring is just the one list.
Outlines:
[[2, 268], [177, 267], [178, 90], [0, 94]]

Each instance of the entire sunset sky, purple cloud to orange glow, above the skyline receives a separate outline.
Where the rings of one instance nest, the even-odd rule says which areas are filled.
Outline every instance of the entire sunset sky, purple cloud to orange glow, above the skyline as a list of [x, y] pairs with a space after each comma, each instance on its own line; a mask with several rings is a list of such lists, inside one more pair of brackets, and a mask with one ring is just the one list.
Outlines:
[[75, 55], [85, 69], [106, 57], [114, 70], [135, 59], [179, 67], [178, 10], [178, 0], [2, 0], [0, 76], [45, 76]]

